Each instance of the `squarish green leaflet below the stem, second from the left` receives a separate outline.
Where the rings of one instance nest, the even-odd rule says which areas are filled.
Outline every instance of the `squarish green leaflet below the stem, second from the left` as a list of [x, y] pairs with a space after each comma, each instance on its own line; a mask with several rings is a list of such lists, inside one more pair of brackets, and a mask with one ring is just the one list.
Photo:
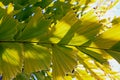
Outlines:
[[47, 48], [34, 44], [24, 44], [23, 46], [25, 73], [47, 70], [50, 67], [51, 55]]

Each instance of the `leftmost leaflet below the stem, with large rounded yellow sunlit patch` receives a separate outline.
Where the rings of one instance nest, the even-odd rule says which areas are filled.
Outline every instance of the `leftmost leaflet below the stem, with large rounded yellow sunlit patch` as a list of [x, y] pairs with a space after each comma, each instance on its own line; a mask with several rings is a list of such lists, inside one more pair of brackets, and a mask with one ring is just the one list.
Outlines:
[[0, 74], [3, 80], [10, 80], [22, 68], [22, 49], [16, 43], [0, 43]]

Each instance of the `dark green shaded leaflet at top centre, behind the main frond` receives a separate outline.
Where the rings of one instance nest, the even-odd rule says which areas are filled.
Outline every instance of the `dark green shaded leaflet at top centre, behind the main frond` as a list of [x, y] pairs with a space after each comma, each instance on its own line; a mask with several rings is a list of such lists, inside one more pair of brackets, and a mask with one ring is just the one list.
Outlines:
[[[54, 9], [56, 9], [56, 10], [54, 10]], [[66, 15], [67, 12], [69, 12], [69, 10], [71, 10], [71, 5], [70, 5], [69, 2], [65, 3], [65, 1], [62, 2], [62, 1], [58, 0], [53, 4], [52, 7], [48, 7], [46, 9], [46, 13], [48, 13], [48, 12], [51, 13], [52, 12], [51, 17], [54, 18], [55, 20], [60, 20]]]

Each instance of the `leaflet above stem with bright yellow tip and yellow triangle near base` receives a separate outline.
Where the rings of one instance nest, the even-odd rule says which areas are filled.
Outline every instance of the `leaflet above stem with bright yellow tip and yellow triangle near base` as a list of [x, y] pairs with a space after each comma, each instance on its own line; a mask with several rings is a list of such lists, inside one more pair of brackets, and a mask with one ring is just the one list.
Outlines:
[[[72, 19], [73, 18], [71, 17], [70, 20]], [[95, 36], [99, 32], [99, 29], [101, 28], [100, 26], [101, 24], [98, 22], [98, 18], [94, 14], [94, 10], [91, 10], [85, 15], [83, 15], [80, 20], [71, 25], [71, 27], [58, 27], [58, 29], [62, 31], [64, 31], [65, 28], [68, 29], [68, 31], [65, 30], [66, 34], [65, 31], [63, 33], [59, 30], [59, 35], [64, 34], [64, 37], [61, 39], [59, 44], [82, 45], [87, 41], [95, 38]]]

